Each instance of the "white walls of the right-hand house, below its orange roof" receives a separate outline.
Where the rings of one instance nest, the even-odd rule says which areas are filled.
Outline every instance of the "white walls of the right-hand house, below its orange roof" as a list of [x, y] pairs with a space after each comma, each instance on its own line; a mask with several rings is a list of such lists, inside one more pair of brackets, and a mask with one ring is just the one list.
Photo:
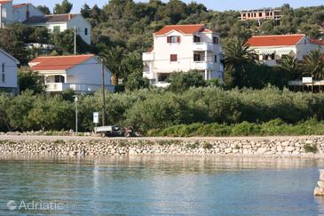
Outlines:
[[303, 60], [304, 56], [312, 50], [318, 49], [324, 51], [324, 46], [312, 43], [312, 40], [307, 36], [301, 36], [300, 40], [293, 45], [250, 45], [249, 49], [256, 52], [258, 60], [261, 62], [264, 62], [268, 66], [276, 66], [285, 55]]

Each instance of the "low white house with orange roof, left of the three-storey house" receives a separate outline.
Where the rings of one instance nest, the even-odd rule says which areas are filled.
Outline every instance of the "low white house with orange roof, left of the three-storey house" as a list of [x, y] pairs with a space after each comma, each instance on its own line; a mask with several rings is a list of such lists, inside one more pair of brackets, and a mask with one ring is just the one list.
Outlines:
[[[101, 88], [101, 63], [93, 54], [43, 56], [29, 63], [33, 71], [44, 76], [46, 92], [63, 92], [71, 89], [79, 93], [98, 92]], [[111, 85], [111, 71], [104, 67], [105, 86]]]

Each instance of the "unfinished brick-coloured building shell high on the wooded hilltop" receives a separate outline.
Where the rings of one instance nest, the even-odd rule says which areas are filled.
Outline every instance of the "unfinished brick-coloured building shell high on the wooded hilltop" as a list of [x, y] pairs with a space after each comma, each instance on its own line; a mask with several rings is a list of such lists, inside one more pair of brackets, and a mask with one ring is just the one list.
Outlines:
[[259, 23], [264, 20], [274, 20], [279, 23], [281, 18], [281, 9], [264, 8], [241, 11], [241, 20], [257, 20]]

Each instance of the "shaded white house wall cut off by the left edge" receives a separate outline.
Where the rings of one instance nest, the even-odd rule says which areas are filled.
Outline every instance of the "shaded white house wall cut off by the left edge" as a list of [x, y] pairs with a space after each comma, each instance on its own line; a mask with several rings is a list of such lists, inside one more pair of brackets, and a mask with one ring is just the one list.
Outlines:
[[0, 49], [0, 92], [18, 93], [18, 60]]

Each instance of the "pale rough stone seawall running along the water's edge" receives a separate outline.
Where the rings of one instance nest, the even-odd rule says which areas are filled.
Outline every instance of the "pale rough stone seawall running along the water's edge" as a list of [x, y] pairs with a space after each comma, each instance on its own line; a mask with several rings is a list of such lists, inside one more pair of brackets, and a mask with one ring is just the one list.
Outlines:
[[324, 158], [324, 137], [261, 140], [0, 140], [0, 155]]

